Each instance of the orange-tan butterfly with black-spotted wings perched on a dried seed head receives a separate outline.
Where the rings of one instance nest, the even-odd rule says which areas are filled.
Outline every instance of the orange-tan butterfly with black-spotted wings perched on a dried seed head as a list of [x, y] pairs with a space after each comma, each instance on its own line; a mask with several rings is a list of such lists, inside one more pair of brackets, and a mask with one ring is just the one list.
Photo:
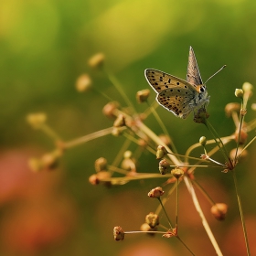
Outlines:
[[157, 93], [156, 101], [177, 117], [186, 119], [190, 112], [208, 105], [207, 87], [201, 78], [192, 47], [189, 48], [187, 80], [156, 69], [145, 69], [144, 75]]

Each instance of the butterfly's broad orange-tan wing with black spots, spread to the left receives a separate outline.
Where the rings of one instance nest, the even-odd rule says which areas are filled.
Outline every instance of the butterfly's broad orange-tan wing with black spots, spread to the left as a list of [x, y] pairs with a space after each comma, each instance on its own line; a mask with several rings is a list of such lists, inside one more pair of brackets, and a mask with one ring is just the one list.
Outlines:
[[156, 69], [145, 69], [145, 78], [157, 93], [156, 101], [176, 116], [186, 119], [195, 108], [198, 86]]

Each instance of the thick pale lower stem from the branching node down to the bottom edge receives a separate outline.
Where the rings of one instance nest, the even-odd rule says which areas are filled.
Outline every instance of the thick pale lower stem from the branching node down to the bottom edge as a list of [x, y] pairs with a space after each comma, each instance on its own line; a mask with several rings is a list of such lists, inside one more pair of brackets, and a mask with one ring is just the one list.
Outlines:
[[203, 213], [203, 211], [202, 211], [202, 209], [201, 209], [201, 207], [199, 205], [199, 202], [198, 202], [198, 199], [197, 199], [197, 195], [195, 193], [193, 185], [191, 184], [191, 182], [189, 182], [189, 179], [187, 178], [187, 176], [184, 176], [184, 181], [185, 181], [187, 189], [188, 189], [188, 191], [189, 191], [189, 193], [190, 193], [190, 195], [192, 197], [192, 200], [193, 200], [193, 203], [194, 203], [194, 205], [195, 205], [195, 207], [197, 209], [197, 212], [198, 212], [200, 218], [202, 219], [202, 224], [203, 224], [204, 228], [206, 229], [206, 232], [208, 234], [209, 240], [211, 241], [211, 243], [212, 243], [212, 245], [213, 245], [217, 255], [218, 256], [223, 255], [222, 252], [219, 249], [219, 245], [218, 245], [217, 241], [215, 240], [215, 237], [212, 234], [211, 229], [208, 226], [208, 221], [205, 218], [204, 213]]

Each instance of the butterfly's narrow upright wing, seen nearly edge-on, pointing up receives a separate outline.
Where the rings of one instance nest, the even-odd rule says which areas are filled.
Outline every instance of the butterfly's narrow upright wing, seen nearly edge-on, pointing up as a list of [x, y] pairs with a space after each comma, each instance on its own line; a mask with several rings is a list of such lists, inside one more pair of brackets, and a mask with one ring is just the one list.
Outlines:
[[187, 64], [187, 82], [193, 85], [202, 85], [203, 80], [197, 66], [197, 59], [193, 48], [189, 48], [188, 64]]

